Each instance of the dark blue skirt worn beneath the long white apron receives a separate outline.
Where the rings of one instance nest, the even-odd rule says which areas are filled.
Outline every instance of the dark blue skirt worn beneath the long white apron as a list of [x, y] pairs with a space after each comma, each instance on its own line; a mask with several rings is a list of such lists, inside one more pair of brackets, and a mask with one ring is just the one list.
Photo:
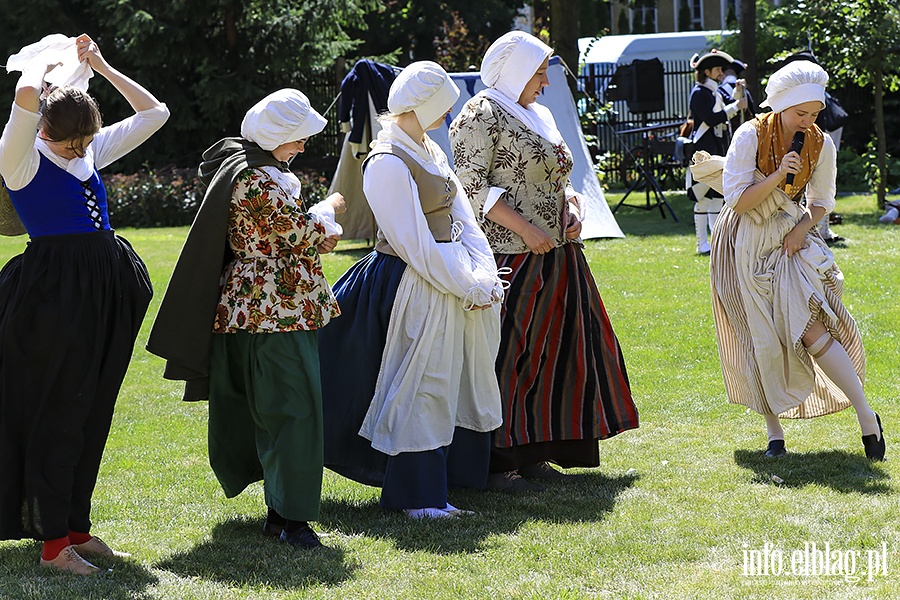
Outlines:
[[[406, 267], [401, 258], [374, 251], [357, 261], [333, 286], [341, 316], [319, 330], [325, 466], [348, 479], [378, 487], [384, 485], [389, 459], [395, 457], [373, 449], [371, 442], [359, 435], [359, 428], [375, 394], [391, 310]], [[424, 481], [423, 487], [438, 495], [448, 485], [482, 488], [487, 478], [489, 436], [457, 428], [449, 447], [431, 451], [445, 457], [438, 462], [446, 464], [446, 474], [434, 472], [433, 457], [425, 456], [431, 452], [409, 453], [403, 466], [398, 463], [391, 472], [399, 474], [400, 467], [405, 473], [402, 479], [408, 481], [412, 476], [423, 482], [427, 478], [431, 483]], [[417, 455], [421, 461], [410, 460]], [[415, 466], [419, 462], [421, 469]], [[429, 501], [418, 499], [415, 503], [436, 506]], [[388, 504], [416, 508], [406, 502], [398, 499]]]

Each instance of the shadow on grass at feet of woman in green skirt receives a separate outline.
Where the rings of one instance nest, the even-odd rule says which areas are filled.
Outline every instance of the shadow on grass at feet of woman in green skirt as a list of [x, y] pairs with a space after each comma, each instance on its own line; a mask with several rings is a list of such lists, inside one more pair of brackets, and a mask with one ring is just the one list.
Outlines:
[[[353, 568], [340, 548], [302, 550], [262, 534], [262, 520], [235, 518], [213, 527], [211, 539], [155, 565], [182, 577], [279, 589], [338, 585]], [[324, 540], [327, 544], [327, 540]]]

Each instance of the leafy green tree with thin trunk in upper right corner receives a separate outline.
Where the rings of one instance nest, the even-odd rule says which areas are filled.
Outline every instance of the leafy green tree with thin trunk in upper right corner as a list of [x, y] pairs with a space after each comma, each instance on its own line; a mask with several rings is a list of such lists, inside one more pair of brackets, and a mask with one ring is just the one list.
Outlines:
[[803, 47], [808, 40], [832, 84], [872, 89], [879, 173], [876, 194], [878, 206], [883, 208], [888, 175], [884, 93], [900, 89], [900, 8], [896, 0], [801, 0], [776, 9], [769, 23], [762, 25], [791, 44], [788, 48]]

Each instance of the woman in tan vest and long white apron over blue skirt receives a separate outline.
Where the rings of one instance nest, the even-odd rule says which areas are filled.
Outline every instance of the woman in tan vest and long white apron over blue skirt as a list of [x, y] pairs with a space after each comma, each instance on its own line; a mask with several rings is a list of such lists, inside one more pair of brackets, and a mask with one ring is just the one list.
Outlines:
[[[462, 186], [425, 133], [458, 96], [430, 61], [391, 86], [391, 114], [363, 166], [378, 241], [335, 284], [343, 316], [320, 333], [326, 466], [381, 485], [381, 506], [414, 518], [460, 514], [448, 484], [484, 486], [488, 432], [500, 425], [501, 281]], [[465, 451], [455, 452], [461, 438]]]

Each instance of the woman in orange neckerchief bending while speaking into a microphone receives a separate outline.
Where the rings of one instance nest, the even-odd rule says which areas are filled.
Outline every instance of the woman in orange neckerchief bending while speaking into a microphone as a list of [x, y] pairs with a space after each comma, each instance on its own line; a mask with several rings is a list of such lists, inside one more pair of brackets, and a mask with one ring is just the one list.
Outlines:
[[728, 150], [727, 206], [710, 263], [719, 356], [729, 401], [766, 419], [767, 456], [785, 454], [779, 416], [852, 405], [866, 456], [882, 460], [859, 330], [841, 303], [843, 274], [815, 228], [835, 197], [834, 144], [815, 125], [827, 81], [809, 61], [776, 71], [761, 105], [772, 112], [741, 126]]

